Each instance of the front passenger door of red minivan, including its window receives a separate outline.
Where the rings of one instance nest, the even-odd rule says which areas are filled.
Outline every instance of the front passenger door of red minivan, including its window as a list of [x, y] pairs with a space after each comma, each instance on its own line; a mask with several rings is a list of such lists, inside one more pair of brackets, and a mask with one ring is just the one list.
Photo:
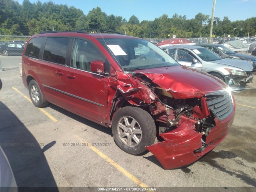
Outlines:
[[105, 56], [92, 42], [76, 38], [68, 67], [66, 91], [70, 110], [104, 122], [107, 116], [109, 78], [91, 71], [90, 63], [94, 60], [103, 61], [107, 68]]

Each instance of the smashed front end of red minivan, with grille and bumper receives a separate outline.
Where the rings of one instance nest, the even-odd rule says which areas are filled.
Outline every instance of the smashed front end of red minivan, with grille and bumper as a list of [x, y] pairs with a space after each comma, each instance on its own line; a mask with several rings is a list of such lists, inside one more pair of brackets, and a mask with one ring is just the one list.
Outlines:
[[175, 100], [174, 109], [166, 110], [167, 121], [164, 115], [157, 118], [158, 142], [146, 147], [165, 169], [198, 160], [226, 137], [234, 120], [233, 99], [226, 91]]

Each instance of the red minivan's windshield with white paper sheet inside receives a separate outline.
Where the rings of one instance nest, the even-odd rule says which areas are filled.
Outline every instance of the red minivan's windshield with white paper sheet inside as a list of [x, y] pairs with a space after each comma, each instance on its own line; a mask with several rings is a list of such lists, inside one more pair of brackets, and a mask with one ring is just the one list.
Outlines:
[[98, 40], [124, 70], [180, 65], [147, 40], [135, 38], [98, 38]]

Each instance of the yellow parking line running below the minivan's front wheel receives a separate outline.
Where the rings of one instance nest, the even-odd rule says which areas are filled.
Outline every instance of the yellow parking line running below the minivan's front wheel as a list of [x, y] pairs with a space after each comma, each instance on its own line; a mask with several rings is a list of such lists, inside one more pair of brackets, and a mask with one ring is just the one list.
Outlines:
[[110, 163], [112, 166], [114, 166], [118, 171], [120, 171], [122, 174], [124, 174], [126, 177], [128, 177], [130, 180], [132, 180], [133, 182], [135, 182], [138, 186], [140, 187], [148, 187], [146, 184], [144, 184], [142, 181], [140, 181], [138, 178], [136, 178], [135, 176], [133, 176], [132, 174], [130, 174], [127, 170], [125, 170], [124, 168], [122, 168], [119, 164], [117, 164], [116, 162], [114, 162], [112, 159], [108, 158], [108, 156], [106, 156], [104, 153], [100, 152], [97, 148], [95, 148], [94, 146], [90, 145], [88, 142], [84, 141], [82, 138], [80, 138], [79, 136], [74, 135], [78, 140], [80, 140], [80, 142], [86, 143], [86, 145], [88, 145], [88, 147], [93, 150], [94, 152], [96, 152], [101, 158], [103, 158], [104, 160], [106, 160], [106, 162]]

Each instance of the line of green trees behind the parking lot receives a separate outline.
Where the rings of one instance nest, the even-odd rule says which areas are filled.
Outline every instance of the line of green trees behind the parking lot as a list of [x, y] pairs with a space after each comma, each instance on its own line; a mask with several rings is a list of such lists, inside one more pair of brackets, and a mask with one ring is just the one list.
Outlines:
[[[235, 13], [234, 13], [235, 14]], [[127, 21], [122, 16], [107, 15], [100, 7], [93, 8], [87, 15], [82, 10], [52, 1], [31, 3], [24, 0], [20, 5], [14, 0], [0, 1], [0, 34], [31, 36], [43, 31], [77, 30], [82, 28], [113, 30], [140, 38], [208, 37], [210, 16], [198, 13], [192, 19], [175, 13], [172, 17], [163, 14], [154, 20], [140, 21], [132, 15]], [[231, 22], [214, 17], [213, 34], [223, 37], [256, 35], [256, 17]]]

